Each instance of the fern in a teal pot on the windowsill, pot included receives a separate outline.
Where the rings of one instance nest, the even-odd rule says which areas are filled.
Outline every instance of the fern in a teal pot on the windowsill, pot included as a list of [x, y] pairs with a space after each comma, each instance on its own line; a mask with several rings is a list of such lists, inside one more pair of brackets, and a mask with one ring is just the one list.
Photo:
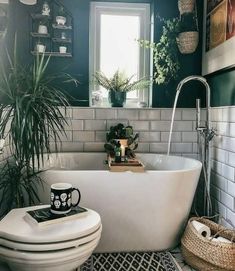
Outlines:
[[126, 102], [126, 94], [133, 90], [144, 90], [149, 87], [150, 81], [146, 78], [133, 80], [134, 76], [128, 77], [124, 72], [117, 70], [112, 77], [107, 77], [103, 72], [94, 74], [95, 83], [105, 88], [112, 107], [123, 107]]

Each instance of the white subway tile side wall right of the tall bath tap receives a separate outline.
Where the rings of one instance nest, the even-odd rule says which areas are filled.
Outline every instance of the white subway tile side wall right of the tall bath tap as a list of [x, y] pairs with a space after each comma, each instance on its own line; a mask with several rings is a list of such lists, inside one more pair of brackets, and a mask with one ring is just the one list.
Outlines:
[[211, 109], [217, 136], [212, 141], [212, 202], [221, 223], [235, 227], [235, 107]]

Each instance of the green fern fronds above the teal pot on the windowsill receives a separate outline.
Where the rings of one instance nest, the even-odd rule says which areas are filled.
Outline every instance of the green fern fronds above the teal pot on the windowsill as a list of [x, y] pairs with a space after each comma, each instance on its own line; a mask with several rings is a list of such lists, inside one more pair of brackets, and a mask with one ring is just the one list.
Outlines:
[[111, 78], [108, 78], [103, 72], [97, 71], [94, 74], [94, 78], [96, 84], [108, 91], [129, 92], [146, 89], [150, 85], [150, 81], [145, 78], [133, 81], [134, 75], [128, 77], [124, 72], [120, 72], [119, 70]]

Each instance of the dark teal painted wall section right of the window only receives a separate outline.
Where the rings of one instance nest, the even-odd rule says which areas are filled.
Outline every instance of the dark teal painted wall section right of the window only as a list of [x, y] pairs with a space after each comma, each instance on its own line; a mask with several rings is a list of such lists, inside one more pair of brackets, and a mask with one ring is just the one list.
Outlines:
[[[179, 81], [188, 75], [201, 74], [201, 44], [202, 44], [202, 1], [197, 1], [197, 14], [199, 23], [199, 45], [193, 54], [182, 55], [179, 53], [181, 70], [179, 79], [172, 81], [169, 85], [155, 85], [153, 88], [153, 106], [154, 107], [172, 107], [175, 98], [176, 87]], [[171, 18], [179, 15], [178, 1], [176, 0], [155, 0], [155, 11], [160, 17]], [[155, 41], [161, 36], [162, 26], [159, 20], [155, 20]], [[205, 90], [202, 85], [196, 81], [187, 83], [181, 92], [178, 100], [178, 107], [195, 107], [197, 98], [205, 104]]]

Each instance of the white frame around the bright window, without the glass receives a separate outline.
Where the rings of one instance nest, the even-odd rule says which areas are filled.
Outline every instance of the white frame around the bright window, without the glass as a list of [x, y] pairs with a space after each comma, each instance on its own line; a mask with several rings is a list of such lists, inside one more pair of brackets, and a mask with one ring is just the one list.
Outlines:
[[[100, 70], [100, 19], [102, 14], [114, 15], [136, 15], [140, 17], [140, 39], [150, 40], [151, 37], [151, 17], [150, 4], [148, 3], [117, 3], [117, 2], [91, 2], [90, 3], [90, 25], [89, 25], [89, 100], [92, 105], [92, 92], [97, 90], [93, 84], [93, 74]], [[150, 77], [150, 50], [140, 48], [139, 63], [141, 70], [139, 77]], [[138, 92], [138, 101], [131, 99], [132, 102], [144, 102], [149, 104], [149, 90]], [[104, 101], [103, 106], [108, 102]], [[128, 101], [127, 101], [128, 106]]]

